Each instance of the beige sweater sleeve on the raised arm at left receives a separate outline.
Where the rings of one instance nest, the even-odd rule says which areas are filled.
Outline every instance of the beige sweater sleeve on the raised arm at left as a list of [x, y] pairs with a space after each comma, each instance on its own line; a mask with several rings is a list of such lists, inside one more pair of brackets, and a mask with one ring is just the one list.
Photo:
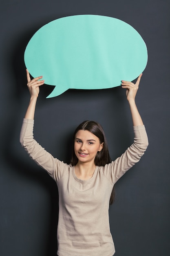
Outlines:
[[46, 170], [55, 181], [68, 171], [68, 165], [48, 153], [33, 137], [34, 120], [23, 119], [20, 132], [20, 143], [29, 156], [44, 170]]

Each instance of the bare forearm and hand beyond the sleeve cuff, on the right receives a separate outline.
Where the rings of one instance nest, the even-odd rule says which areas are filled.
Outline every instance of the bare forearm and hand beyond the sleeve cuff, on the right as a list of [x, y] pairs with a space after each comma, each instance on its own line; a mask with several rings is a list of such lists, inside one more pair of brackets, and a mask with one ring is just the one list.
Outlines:
[[141, 119], [141, 116], [139, 114], [139, 111], [135, 103], [135, 97], [137, 94], [137, 90], [139, 88], [139, 82], [141, 80], [141, 76], [142, 74], [139, 75], [136, 83], [132, 83], [124, 80], [122, 80], [122, 83], [121, 83], [122, 85], [121, 87], [126, 89], [126, 97], [130, 106], [133, 126], [143, 125], [143, 121]]

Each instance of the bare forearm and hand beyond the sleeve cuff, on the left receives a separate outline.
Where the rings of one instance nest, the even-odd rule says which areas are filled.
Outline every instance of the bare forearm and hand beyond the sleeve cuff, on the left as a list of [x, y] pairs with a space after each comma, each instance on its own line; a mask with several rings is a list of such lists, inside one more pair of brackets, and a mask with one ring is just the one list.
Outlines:
[[39, 81], [39, 79], [42, 79], [42, 76], [38, 76], [31, 80], [28, 70], [26, 70], [26, 77], [27, 77], [27, 86], [30, 92], [30, 101], [29, 101], [29, 106], [26, 110], [25, 118], [34, 119], [35, 106], [36, 106], [38, 94], [40, 92], [39, 87], [44, 84], [44, 80]]

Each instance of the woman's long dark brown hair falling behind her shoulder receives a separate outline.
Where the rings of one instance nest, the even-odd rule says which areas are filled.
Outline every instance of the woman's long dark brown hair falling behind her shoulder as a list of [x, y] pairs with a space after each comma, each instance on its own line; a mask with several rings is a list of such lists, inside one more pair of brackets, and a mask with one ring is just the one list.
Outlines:
[[[99, 138], [100, 144], [103, 143], [103, 148], [101, 151], [97, 152], [95, 157], [95, 165], [96, 166], [105, 166], [106, 164], [111, 163], [111, 158], [108, 151], [108, 144], [106, 140], [106, 136], [104, 134], [104, 130], [102, 126], [95, 122], [95, 121], [84, 121], [75, 129], [73, 140], [75, 141], [75, 135], [79, 130], [88, 130], [89, 132], [93, 133], [95, 136]], [[72, 166], [76, 165], [78, 162], [78, 158], [75, 155], [74, 145], [72, 150], [72, 157], [71, 157], [71, 164]], [[115, 199], [115, 190], [113, 188], [112, 193], [110, 195], [110, 204], [113, 203]]]

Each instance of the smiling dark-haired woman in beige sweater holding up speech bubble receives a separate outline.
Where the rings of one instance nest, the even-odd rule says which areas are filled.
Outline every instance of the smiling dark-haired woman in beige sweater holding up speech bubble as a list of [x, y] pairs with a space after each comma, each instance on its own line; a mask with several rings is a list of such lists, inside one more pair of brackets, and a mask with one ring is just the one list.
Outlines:
[[[135, 104], [141, 75], [126, 89], [134, 126], [133, 144], [115, 161], [110, 160], [102, 127], [84, 121], [75, 130], [71, 164], [64, 164], [33, 139], [33, 119], [42, 76], [30, 79], [26, 70], [30, 102], [23, 121], [20, 142], [37, 164], [56, 181], [59, 191], [57, 241], [59, 256], [113, 256], [115, 247], [109, 227], [109, 202], [115, 182], [136, 162], [148, 146], [148, 138]], [[111, 198], [110, 198], [111, 196]]]

